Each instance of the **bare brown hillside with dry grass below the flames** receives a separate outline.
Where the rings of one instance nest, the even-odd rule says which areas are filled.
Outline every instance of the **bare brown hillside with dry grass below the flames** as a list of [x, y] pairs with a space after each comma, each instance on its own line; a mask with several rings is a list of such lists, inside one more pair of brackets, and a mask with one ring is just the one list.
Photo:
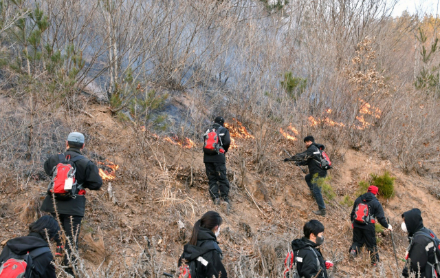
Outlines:
[[[349, 261], [351, 207], [340, 204], [344, 195], [354, 200], [360, 180], [385, 170], [397, 178], [395, 197], [380, 201], [395, 227], [399, 258], [404, 256], [407, 244], [399, 228], [403, 211], [420, 208], [426, 226], [440, 233], [436, 219], [440, 202], [427, 189], [431, 184], [438, 186], [438, 182], [406, 175], [374, 153], [341, 151], [341, 156], [334, 160], [336, 166], [330, 171], [336, 197], [326, 200], [327, 216], [316, 217], [311, 213], [316, 205], [303, 173], [294, 164], [281, 161], [285, 157], [283, 146], [287, 145], [293, 152], [303, 148], [300, 141], [281, 138], [273, 142], [271, 147], [276, 151], [268, 154], [270, 167], [257, 173], [250, 160], [252, 134], [245, 128], [236, 132], [231, 129], [235, 146], [228, 153], [228, 175], [233, 207], [227, 211], [224, 205], [214, 206], [208, 196], [200, 142], [196, 142], [195, 147], [181, 147], [172, 138], [115, 120], [105, 107], [91, 105], [88, 108], [89, 116], [79, 117], [82, 125], [90, 127], [87, 133], [93, 138], [85, 153], [96, 162], [102, 162], [100, 169], [107, 171], [107, 178], [111, 179], [104, 181], [100, 191], [87, 192], [79, 253], [89, 275], [107, 267], [108, 272], [115, 272], [117, 277], [123, 271], [134, 269], [146, 277], [174, 273], [192, 224], [206, 211], [215, 210], [224, 220], [219, 240], [230, 277], [281, 277], [289, 242], [301, 235], [303, 224], [310, 219], [325, 224], [324, 254], [327, 259], [336, 261], [332, 277], [396, 277], [399, 270], [395, 267], [388, 232], [378, 234], [382, 259], [379, 267], [369, 267], [366, 257]], [[63, 121], [63, 125], [68, 126], [68, 122]], [[235, 125], [238, 124], [235, 122]], [[147, 147], [143, 148], [142, 144]], [[63, 140], [58, 147], [63, 147]], [[146, 159], [140, 160], [140, 156]], [[243, 157], [247, 158], [244, 171]], [[118, 165], [115, 172], [111, 162]], [[42, 163], [34, 167], [39, 169], [36, 175], [1, 182], [2, 244], [11, 237], [25, 235], [26, 225], [41, 215], [41, 192], [47, 180], [41, 173]], [[146, 182], [142, 181], [143, 177]], [[191, 180], [192, 186], [189, 185]], [[114, 202], [108, 198], [109, 184], [115, 195]], [[182, 222], [184, 228], [178, 222]], [[404, 263], [399, 264], [400, 269]], [[127, 273], [123, 276], [127, 277]], [[130, 273], [133, 276], [135, 272]]]

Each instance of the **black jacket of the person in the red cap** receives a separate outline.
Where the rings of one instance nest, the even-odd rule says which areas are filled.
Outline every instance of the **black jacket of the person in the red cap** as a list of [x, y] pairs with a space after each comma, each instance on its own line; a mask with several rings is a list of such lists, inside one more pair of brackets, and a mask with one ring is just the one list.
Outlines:
[[[355, 219], [355, 210], [358, 207], [358, 204], [360, 204], [361, 202], [363, 202], [364, 204], [366, 202], [369, 205], [369, 215], [373, 217], [374, 222], [372, 221], [371, 223], [366, 224], [353, 222], [353, 220]], [[364, 228], [373, 231], [375, 230], [374, 224], [376, 220], [382, 226], [388, 228], [388, 222], [386, 222], [384, 208], [382, 208], [382, 204], [380, 204], [379, 200], [377, 200], [377, 197], [371, 192], [364, 193], [355, 200], [355, 204], [353, 204], [353, 210], [351, 210], [350, 219], [351, 222], [353, 222], [353, 226], [357, 228]]]

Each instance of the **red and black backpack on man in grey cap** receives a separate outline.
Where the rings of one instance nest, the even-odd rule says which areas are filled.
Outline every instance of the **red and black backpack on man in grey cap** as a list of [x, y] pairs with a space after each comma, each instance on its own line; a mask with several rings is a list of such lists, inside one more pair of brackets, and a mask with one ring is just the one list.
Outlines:
[[56, 200], [74, 199], [76, 191], [81, 187], [75, 177], [75, 162], [82, 159], [86, 158], [80, 155], [70, 158], [69, 155], [65, 156], [64, 153], [58, 153], [59, 162], [52, 169], [52, 178], [47, 188], [47, 194], [52, 195], [53, 193]]

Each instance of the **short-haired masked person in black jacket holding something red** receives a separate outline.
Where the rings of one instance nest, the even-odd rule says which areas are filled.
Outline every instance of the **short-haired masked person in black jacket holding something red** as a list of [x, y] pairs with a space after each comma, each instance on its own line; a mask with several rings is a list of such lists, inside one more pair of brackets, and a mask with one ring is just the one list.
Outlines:
[[304, 237], [292, 242], [298, 275], [305, 278], [327, 278], [327, 269], [333, 263], [325, 261], [320, 250], [320, 245], [324, 243], [324, 225], [318, 220], [310, 220], [304, 225], [303, 231]]

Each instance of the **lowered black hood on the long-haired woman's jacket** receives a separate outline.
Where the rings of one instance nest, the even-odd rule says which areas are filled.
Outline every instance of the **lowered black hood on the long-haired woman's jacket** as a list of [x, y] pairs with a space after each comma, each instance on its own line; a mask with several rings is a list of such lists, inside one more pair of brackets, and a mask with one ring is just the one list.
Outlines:
[[[215, 242], [215, 244], [205, 244], [206, 242]], [[184, 246], [184, 259], [192, 261], [197, 257], [202, 256], [212, 250], [218, 250], [217, 237], [208, 228], [199, 228], [199, 235], [197, 235], [197, 246], [186, 244]]]

